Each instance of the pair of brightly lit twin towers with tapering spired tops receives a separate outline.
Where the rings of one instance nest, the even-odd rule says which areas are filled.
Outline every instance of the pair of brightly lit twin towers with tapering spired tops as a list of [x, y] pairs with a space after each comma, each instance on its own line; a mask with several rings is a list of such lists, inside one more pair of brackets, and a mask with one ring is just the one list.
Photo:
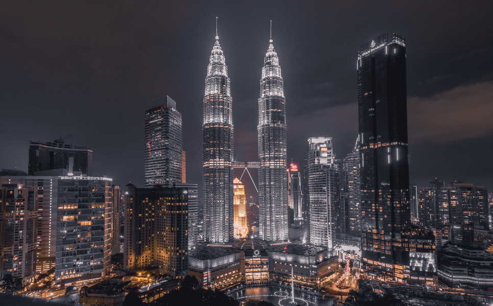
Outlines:
[[[259, 239], [288, 239], [286, 100], [279, 58], [270, 39], [260, 80], [258, 132]], [[204, 96], [204, 240], [233, 241], [233, 99], [223, 50], [216, 42], [207, 66]]]

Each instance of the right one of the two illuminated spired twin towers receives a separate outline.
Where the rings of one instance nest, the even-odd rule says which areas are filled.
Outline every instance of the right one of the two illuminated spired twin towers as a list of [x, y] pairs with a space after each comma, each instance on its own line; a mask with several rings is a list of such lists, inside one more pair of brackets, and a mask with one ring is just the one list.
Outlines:
[[288, 239], [286, 99], [272, 37], [260, 80], [258, 155], [259, 238]]

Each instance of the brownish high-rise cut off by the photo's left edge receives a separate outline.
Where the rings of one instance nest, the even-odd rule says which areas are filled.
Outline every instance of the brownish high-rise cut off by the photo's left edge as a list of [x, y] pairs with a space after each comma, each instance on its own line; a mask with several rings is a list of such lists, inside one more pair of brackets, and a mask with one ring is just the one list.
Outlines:
[[1, 186], [0, 279], [12, 274], [26, 281], [36, 272], [36, 192], [22, 184]]

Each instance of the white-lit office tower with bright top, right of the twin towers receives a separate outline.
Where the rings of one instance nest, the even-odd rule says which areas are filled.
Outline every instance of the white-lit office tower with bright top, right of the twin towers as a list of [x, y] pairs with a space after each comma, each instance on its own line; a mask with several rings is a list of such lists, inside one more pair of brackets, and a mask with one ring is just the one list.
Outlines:
[[329, 249], [339, 231], [339, 166], [331, 137], [308, 138], [310, 242]]

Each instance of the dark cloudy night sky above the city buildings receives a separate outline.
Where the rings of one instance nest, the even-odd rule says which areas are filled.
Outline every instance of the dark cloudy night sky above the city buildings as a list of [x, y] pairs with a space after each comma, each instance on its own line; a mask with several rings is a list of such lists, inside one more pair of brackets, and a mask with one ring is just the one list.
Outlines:
[[399, 33], [407, 49], [410, 182], [457, 178], [491, 192], [491, 12], [489, 1], [2, 1], [0, 168], [27, 171], [30, 140], [73, 134], [66, 143], [93, 150], [94, 175], [143, 187], [144, 111], [167, 94], [183, 114], [187, 183], [201, 186], [202, 99], [218, 16], [235, 161], [257, 161], [269, 20], [284, 79], [288, 159], [297, 164], [308, 137], [333, 137], [337, 158], [351, 151], [359, 47]]

